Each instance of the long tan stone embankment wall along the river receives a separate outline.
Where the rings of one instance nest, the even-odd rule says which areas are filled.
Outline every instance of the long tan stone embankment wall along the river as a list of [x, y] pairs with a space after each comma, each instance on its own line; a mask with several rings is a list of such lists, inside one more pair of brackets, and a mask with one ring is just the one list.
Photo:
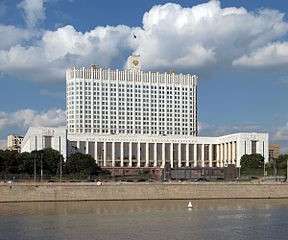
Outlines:
[[3, 183], [0, 202], [288, 198], [286, 183]]

